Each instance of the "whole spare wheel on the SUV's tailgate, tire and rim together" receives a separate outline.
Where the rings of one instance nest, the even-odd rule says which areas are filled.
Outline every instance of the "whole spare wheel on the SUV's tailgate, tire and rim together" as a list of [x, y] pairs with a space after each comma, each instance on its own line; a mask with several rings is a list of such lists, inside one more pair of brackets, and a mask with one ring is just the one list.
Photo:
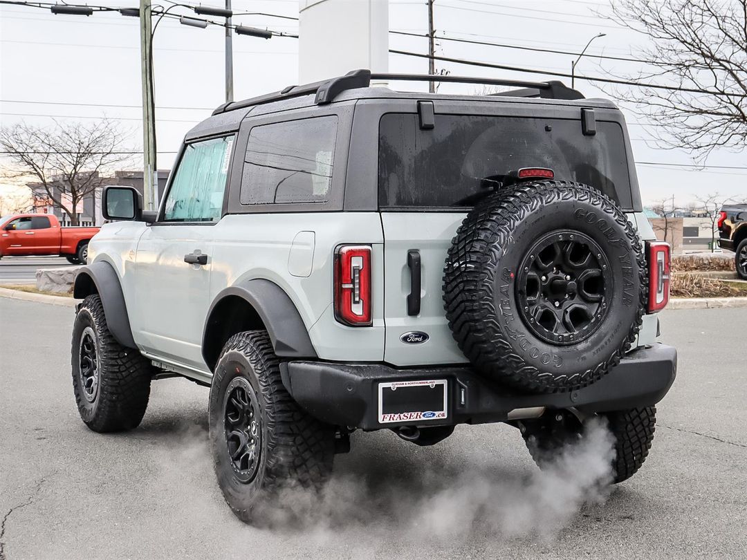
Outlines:
[[630, 348], [645, 279], [638, 237], [615, 202], [585, 184], [533, 181], [465, 217], [444, 268], [444, 307], [480, 373], [526, 391], [572, 391]]

